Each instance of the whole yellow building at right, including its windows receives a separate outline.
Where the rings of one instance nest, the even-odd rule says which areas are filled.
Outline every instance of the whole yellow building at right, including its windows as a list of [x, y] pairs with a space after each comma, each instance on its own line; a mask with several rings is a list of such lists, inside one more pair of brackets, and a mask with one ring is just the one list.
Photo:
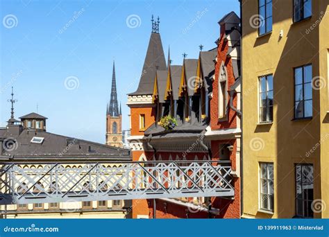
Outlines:
[[328, 1], [241, 3], [242, 217], [329, 218]]

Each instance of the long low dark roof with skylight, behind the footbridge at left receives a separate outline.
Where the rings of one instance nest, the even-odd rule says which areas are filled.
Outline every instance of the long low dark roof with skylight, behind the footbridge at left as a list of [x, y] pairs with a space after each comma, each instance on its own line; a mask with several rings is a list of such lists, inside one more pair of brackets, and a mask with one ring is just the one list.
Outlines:
[[[1, 139], [13, 139], [15, 141], [15, 149], [3, 150], [1, 159], [113, 159], [113, 160], [129, 160], [130, 154], [128, 150], [106, 146], [92, 141], [83, 139], [74, 139], [58, 134], [45, 131], [23, 130], [21, 134], [12, 137], [11, 134], [0, 130]], [[33, 137], [44, 138], [42, 143], [33, 143]], [[6, 144], [3, 144], [6, 146]]]

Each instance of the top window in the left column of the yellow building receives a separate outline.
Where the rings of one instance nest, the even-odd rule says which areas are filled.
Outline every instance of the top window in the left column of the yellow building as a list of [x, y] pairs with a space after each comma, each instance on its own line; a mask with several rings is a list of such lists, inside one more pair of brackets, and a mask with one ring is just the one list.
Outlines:
[[259, 0], [258, 34], [264, 35], [272, 31], [272, 0]]

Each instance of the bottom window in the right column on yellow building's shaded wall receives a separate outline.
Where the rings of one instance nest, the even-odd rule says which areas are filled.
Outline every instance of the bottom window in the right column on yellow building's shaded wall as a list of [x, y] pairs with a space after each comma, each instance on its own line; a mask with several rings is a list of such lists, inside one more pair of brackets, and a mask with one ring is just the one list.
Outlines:
[[313, 218], [313, 166], [296, 164], [296, 216]]

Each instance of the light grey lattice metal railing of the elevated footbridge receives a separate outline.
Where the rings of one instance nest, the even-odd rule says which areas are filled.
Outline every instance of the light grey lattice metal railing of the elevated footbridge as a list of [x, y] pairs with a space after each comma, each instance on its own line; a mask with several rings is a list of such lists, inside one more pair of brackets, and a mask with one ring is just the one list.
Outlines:
[[230, 172], [223, 161], [2, 164], [0, 204], [228, 197]]

